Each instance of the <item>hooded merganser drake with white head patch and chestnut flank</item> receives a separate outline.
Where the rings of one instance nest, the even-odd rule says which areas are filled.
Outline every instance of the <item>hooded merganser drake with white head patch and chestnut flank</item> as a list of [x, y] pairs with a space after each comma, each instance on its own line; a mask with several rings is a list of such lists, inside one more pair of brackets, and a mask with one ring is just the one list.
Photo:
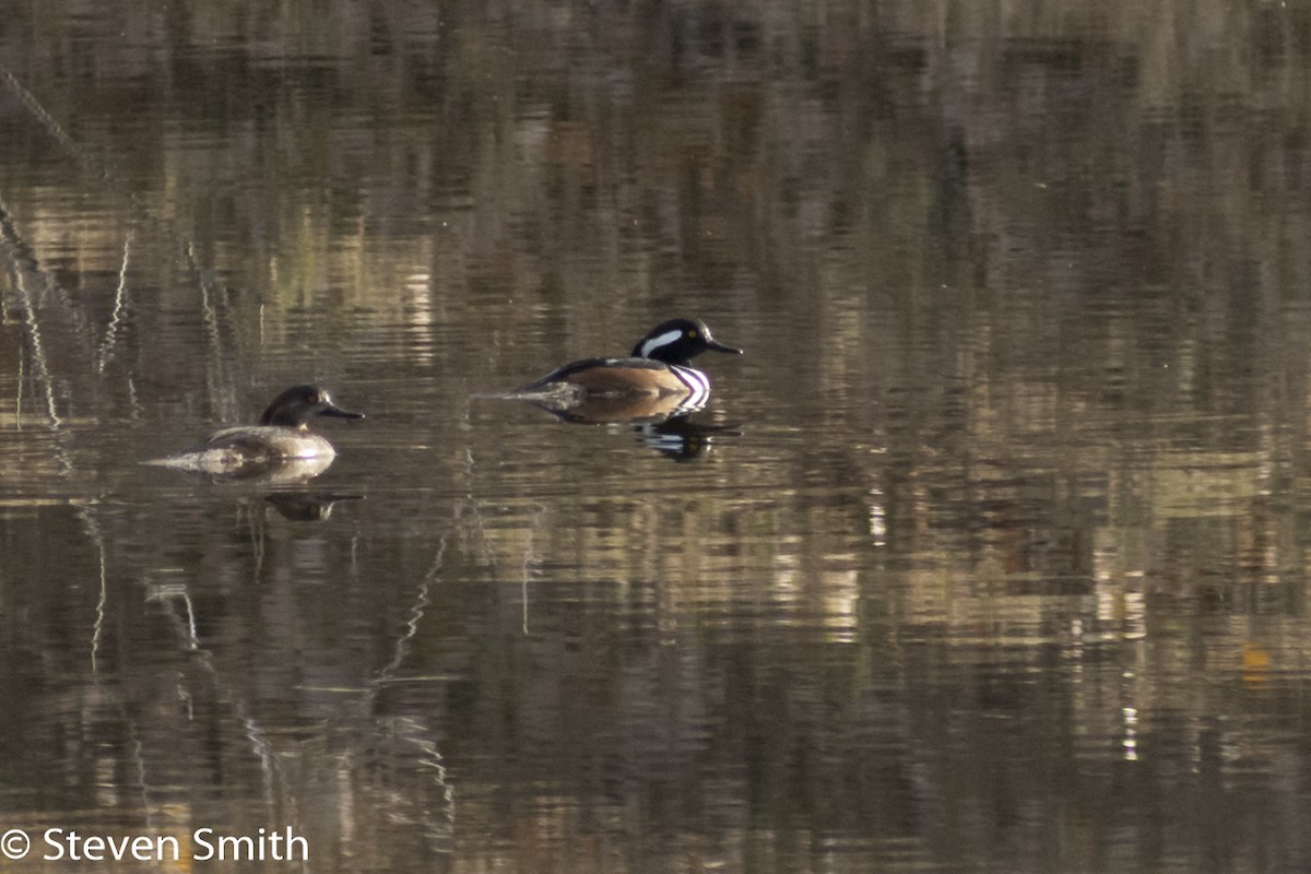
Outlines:
[[705, 406], [711, 380], [691, 366], [695, 355], [711, 350], [741, 355], [711, 335], [705, 322], [671, 318], [637, 341], [628, 358], [589, 358], [565, 364], [519, 390], [520, 396], [549, 398], [556, 409], [573, 409], [598, 401], [667, 398], [662, 418]]

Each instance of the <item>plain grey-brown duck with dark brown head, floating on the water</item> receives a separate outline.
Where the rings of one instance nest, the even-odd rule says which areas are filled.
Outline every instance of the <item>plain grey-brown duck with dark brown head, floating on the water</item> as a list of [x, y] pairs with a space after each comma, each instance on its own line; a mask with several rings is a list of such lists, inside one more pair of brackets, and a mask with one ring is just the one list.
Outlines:
[[317, 385], [295, 385], [273, 398], [260, 425], [215, 431], [197, 447], [147, 464], [241, 478], [308, 480], [326, 470], [337, 455], [332, 443], [309, 432], [315, 415], [364, 418], [333, 404]]

